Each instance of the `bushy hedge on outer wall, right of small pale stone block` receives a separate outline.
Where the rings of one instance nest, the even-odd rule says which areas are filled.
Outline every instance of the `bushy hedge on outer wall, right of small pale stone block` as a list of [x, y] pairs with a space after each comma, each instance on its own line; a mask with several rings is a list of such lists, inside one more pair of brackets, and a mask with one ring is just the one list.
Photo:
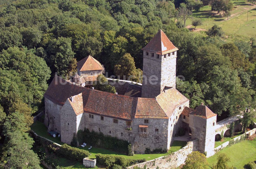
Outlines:
[[98, 164], [106, 165], [107, 167], [113, 166], [114, 164], [120, 165], [123, 168], [131, 166], [133, 164], [145, 162], [146, 159], [126, 159], [122, 156], [113, 156], [109, 154], [95, 154]]

